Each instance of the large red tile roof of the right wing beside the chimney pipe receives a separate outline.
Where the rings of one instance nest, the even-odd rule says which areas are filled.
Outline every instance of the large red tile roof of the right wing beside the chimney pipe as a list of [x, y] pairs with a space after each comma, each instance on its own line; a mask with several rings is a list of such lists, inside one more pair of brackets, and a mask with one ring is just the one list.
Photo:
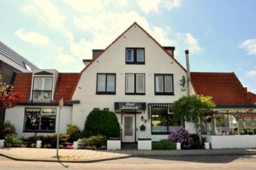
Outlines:
[[216, 104], [252, 104], [234, 72], [191, 72], [196, 94], [210, 95]]

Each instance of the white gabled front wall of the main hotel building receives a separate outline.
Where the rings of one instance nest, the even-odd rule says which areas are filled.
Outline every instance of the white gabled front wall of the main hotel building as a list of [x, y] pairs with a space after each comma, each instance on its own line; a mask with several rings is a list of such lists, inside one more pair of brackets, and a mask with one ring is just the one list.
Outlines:
[[[145, 64], [125, 64], [126, 47], [145, 47]], [[116, 73], [116, 95], [95, 94], [97, 73]], [[146, 95], [125, 95], [126, 73], [145, 73]], [[154, 74], [173, 74], [175, 95], [155, 95]], [[73, 100], [79, 100], [80, 104], [73, 106], [72, 123], [83, 128], [85, 118], [93, 108], [109, 108], [110, 111], [114, 111], [114, 102], [173, 103], [182, 95], [187, 95], [187, 91], [181, 91], [182, 76], [187, 77], [185, 70], [181, 69], [139, 27], [132, 27], [82, 73], [73, 95]], [[148, 110], [142, 115], [148, 119]], [[120, 114], [117, 116], [120, 120]], [[146, 131], [141, 132], [139, 130], [142, 124], [140, 117], [141, 114], [138, 114], [137, 138], [152, 137], [154, 141], [167, 137], [167, 135], [151, 136], [150, 119], [144, 124]]]

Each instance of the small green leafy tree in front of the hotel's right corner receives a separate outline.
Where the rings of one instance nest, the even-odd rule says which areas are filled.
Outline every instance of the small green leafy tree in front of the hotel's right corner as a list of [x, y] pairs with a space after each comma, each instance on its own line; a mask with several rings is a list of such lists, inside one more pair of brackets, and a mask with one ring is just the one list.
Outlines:
[[174, 118], [177, 120], [185, 119], [186, 122], [193, 122], [198, 129], [197, 134], [202, 143], [201, 122], [205, 112], [215, 107], [212, 96], [189, 95], [182, 96], [173, 104]]

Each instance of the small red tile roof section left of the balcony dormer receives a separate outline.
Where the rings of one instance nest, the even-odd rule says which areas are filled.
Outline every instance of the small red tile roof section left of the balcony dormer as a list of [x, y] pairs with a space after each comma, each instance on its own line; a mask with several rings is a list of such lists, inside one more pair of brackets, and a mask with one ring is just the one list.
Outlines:
[[21, 99], [20, 102], [28, 102], [30, 98], [31, 91], [31, 81], [32, 74], [31, 73], [18, 73], [16, 75], [15, 81], [13, 83], [13, 91], [14, 92], [22, 92], [24, 98]]

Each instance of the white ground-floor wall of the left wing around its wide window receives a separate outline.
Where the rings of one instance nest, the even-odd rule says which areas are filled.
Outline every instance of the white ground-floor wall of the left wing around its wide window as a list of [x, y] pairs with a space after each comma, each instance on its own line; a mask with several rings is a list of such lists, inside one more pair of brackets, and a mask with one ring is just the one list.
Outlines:
[[[10, 120], [10, 122], [15, 125], [15, 127], [17, 129], [18, 137], [28, 137], [28, 136], [35, 135], [34, 132], [23, 132], [25, 108], [56, 108], [57, 116], [56, 116], [56, 131], [55, 132], [57, 133], [59, 107], [15, 106], [14, 108], [6, 109], [5, 122], [7, 120]], [[66, 125], [71, 123], [71, 108], [72, 107], [63, 107], [63, 109], [61, 110], [60, 133], [66, 133], [66, 129], [67, 129]], [[54, 133], [37, 133], [37, 135], [46, 135], [46, 134], [54, 134]]]

